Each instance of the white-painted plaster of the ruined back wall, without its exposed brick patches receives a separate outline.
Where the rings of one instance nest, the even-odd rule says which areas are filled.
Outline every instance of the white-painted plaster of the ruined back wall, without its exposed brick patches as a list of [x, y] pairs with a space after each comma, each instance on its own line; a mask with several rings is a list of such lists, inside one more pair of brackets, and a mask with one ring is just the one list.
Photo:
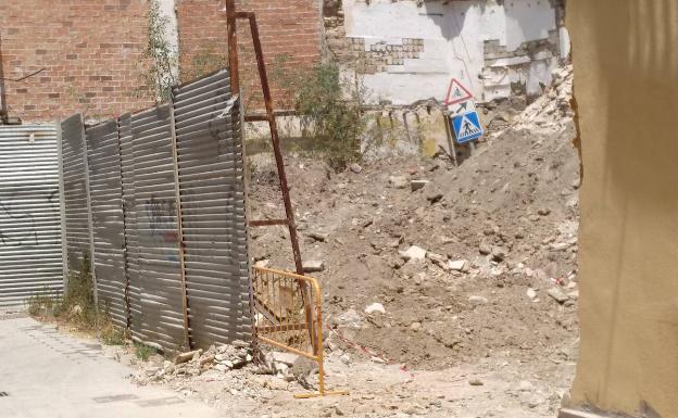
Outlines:
[[364, 77], [373, 101], [410, 104], [429, 98], [442, 100], [452, 77], [465, 83], [479, 101], [507, 97], [511, 83], [518, 80], [535, 94], [540, 83], [550, 83], [557, 60], [500, 62], [486, 71], [486, 40], [498, 39], [515, 50], [525, 41], [549, 37], [549, 30], [556, 28], [549, 0], [506, 0], [503, 5], [492, 0], [428, 1], [420, 7], [415, 1], [372, 0], [367, 4], [365, 0], [344, 0], [343, 12], [347, 36], [364, 38], [367, 50], [378, 42], [424, 39], [418, 59], [405, 59], [404, 65], [389, 65], [387, 72]]

